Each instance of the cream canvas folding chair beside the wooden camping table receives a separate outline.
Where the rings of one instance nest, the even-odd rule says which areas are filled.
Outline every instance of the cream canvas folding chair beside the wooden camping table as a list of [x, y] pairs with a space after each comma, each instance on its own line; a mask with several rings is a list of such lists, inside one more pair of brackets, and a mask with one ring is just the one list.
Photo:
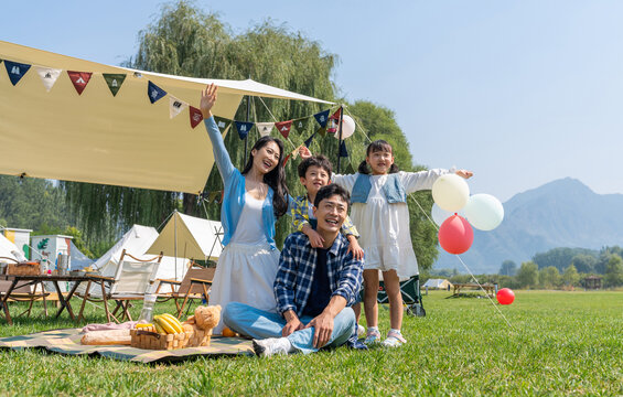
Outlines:
[[[162, 256], [163, 254], [160, 253], [160, 255], [150, 259], [139, 259], [123, 249], [115, 277], [98, 277], [104, 281], [101, 283], [101, 291], [97, 291], [97, 289], [92, 291], [92, 281], [89, 281], [84, 294], [76, 292], [84, 299], [78, 319], [83, 316], [85, 303], [88, 300], [89, 302], [104, 302], [108, 322], [110, 322], [110, 318], [120, 322], [115, 315], [119, 310], [121, 310], [121, 320], [128, 319], [131, 321], [132, 316], [129, 312], [130, 301], [144, 299], [147, 289], [155, 280], [155, 273], [158, 272]], [[105, 282], [109, 285], [108, 290], [104, 286]], [[114, 300], [117, 303], [112, 312], [108, 310], [109, 300]]]

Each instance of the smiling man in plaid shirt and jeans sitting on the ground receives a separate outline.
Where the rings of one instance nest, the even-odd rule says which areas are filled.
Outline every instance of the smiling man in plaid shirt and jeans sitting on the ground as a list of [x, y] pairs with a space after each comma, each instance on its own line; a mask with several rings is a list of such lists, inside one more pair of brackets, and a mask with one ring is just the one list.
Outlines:
[[353, 334], [356, 322], [350, 305], [359, 292], [363, 261], [353, 257], [340, 233], [348, 202], [341, 186], [318, 191], [313, 215], [322, 248], [313, 248], [301, 232], [286, 238], [275, 279], [279, 314], [238, 302], [225, 308], [225, 324], [254, 337], [257, 355], [308, 354], [340, 346]]

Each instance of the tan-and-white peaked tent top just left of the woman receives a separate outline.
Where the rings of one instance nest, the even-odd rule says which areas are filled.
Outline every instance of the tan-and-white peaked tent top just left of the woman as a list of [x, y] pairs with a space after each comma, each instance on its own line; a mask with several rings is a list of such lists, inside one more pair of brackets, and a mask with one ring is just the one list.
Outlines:
[[164, 255], [182, 258], [217, 260], [223, 249], [222, 234], [221, 222], [184, 215], [174, 211], [147, 254], [162, 251]]

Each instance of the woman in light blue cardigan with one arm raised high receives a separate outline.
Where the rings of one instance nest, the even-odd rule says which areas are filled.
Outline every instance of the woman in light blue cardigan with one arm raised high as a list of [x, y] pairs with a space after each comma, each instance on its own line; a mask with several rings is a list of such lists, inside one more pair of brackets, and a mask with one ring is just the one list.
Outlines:
[[[214, 84], [207, 86], [200, 106], [225, 186], [221, 208], [225, 249], [218, 258], [210, 304], [225, 308], [236, 301], [276, 312], [272, 283], [279, 250], [275, 246], [275, 222], [288, 211], [283, 143], [262, 137], [254, 144], [243, 172], [234, 168], [212, 117], [216, 92]], [[221, 322], [214, 332], [222, 331]]]

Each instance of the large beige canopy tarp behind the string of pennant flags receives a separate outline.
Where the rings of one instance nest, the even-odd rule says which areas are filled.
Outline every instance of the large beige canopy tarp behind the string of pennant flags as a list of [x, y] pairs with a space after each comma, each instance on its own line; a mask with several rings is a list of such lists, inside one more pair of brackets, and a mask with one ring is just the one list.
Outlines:
[[132, 71], [3, 41], [0, 60], [0, 173], [9, 175], [196, 194], [214, 163], [205, 128], [191, 126], [206, 84], [219, 86], [213, 112], [227, 119], [245, 95], [330, 104], [250, 79]]

